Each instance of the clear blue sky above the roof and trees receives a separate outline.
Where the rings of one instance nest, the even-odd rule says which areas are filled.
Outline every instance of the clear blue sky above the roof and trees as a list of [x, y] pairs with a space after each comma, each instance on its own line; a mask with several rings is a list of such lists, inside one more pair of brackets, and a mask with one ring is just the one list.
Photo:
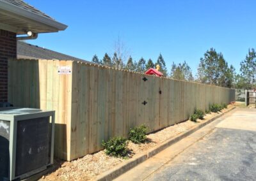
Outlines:
[[114, 43], [124, 42], [132, 58], [187, 61], [195, 75], [200, 57], [211, 47], [222, 52], [228, 64], [239, 63], [255, 48], [256, 1], [221, 0], [25, 0], [68, 28], [40, 34], [28, 41], [41, 47], [91, 61], [111, 54]]

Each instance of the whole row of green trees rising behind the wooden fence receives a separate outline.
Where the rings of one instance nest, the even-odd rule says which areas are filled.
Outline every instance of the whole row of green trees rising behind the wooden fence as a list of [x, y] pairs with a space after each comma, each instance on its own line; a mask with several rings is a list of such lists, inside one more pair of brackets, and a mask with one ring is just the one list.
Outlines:
[[113, 57], [109, 57], [106, 53], [102, 59], [94, 55], [92, 62], [140, 73], [145, 73], [149, 68], [156, 68], [156, 65], [159, 64], [159, 66], [161, 66], [160, 71], [164, 76], [177, 80], [207, 83], [236, 89], [253, 89], [256, 87], [256, 53], [253, 48], [248, 50], [245, 59], [241, 61], [240, 73], [236, 73], [236, 69], [232, 64], [228, 65], [228, 62], [221, 52], [216, 52], [214, 48], [210, 48], [210, 50], [207, 50], [204, 56], [200, 58], [195, 78], [186, 61], [179, 64], [173, 62], [170, 72], [168, 72], [166, 62], [161, 54], [159, 54], [156, 62], [152, 61], [152, 59], [146, 61], [143, 57], [138, 61], [134, 61], [131, 56], [125, 61], [124, 58], [120, 56], [120, 53], [114, 53]]

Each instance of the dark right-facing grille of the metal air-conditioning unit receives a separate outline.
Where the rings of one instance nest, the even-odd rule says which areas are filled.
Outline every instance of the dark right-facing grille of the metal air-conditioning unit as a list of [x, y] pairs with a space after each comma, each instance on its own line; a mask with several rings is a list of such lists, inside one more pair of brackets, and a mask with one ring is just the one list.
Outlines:
[[15, 176], [50, 164], [51, 124], [49, 117], [22, 120], [17, 124]]

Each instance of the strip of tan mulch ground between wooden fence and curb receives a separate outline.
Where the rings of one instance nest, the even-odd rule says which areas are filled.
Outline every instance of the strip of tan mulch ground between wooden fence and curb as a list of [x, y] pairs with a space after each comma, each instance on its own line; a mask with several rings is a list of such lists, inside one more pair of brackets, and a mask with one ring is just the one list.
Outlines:
[[[231, 108], [232, 106], [233, 105], [228, 105], [228, 108]], [[222, 112], [225, 111], [227, 111], [227, 109], [222, 110]], [[205, 115], [204, 120], [198, 119], [198, 122], [205, 122], [215, 115], [218, 115], [218, 113], [207, 114]], [[148, 141], [140, 145], [129, 141], [128, 148], [132, 150], [132, 154], [129, 157], [136, 156], [136, 154], [144, 152], [148, 148], [152, 148], [173, 136], [184, 133], [196, 126], [196, 124], [198, 123], [187, 120], [166, 127], [156, 133], [148, 134]], [[124, 161], [126, 161], [126, 159], [107, 156], [104, 150], [102, 150], [95, 154], [88, 154], [71, 162], [63, 163], [61, 161], [55, 161], [54, 166], [57, 168], [56, 171], [42, 177], [40, 180], [93, 180], [93, 178], [100, 173], [103, 173]]]

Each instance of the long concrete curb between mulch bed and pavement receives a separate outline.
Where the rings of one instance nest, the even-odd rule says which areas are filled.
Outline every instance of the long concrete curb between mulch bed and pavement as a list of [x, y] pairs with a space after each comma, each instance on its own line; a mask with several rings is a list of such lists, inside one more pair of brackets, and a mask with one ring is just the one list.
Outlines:
[[112, 168], [109, 171], [105, 171], [101, 175], [99, 175], [95, 180], [103, 181], [103, 180], [113, 180], [116, 177], [122, 175], [128, 170], [131, 170], [135, 166], [137, 166], [140, 163], [143, 163], [143, 161], [146, 161], [152, 156], [155, 156], [159, 152], [163, 151], [165, 148], [170, 147], [170, 145], [173, 145], [174, 143], [177, 143], [178, 141], [182, 140], [182, 138], [185, 138], [186, 136], [189, 136], [190, 134], [194, 133], [198, 129], [206, 126], [207, 124], [211, 123], [212, 121], [220, 118], [223, 116], [225, 113], [230, 112], [231, 110], [234, 110], [236, 107], [230, 108], [227, 110], [227, 112], [220, 113], [219, 115], [216, 115], [215, 117], [212, 117], [211, 119], [207, 120], [207, 122], [204, 122], [202, 124], [198, 124], [198, 126], [193, 127], [189, 131], [183, 134], [179, 134], [175, 136], [174, 138], [170, 140], [166, 140], [160, 145], [157, 145], [156, 147], [150, 148], [143, 154], [140, 154], [138, 156], [133, 157], [132, 159], [129, 159], [128, 161], [125, 161], [122, 164], [119, 164], [118, 166], [115, 166], [115, 168]]

